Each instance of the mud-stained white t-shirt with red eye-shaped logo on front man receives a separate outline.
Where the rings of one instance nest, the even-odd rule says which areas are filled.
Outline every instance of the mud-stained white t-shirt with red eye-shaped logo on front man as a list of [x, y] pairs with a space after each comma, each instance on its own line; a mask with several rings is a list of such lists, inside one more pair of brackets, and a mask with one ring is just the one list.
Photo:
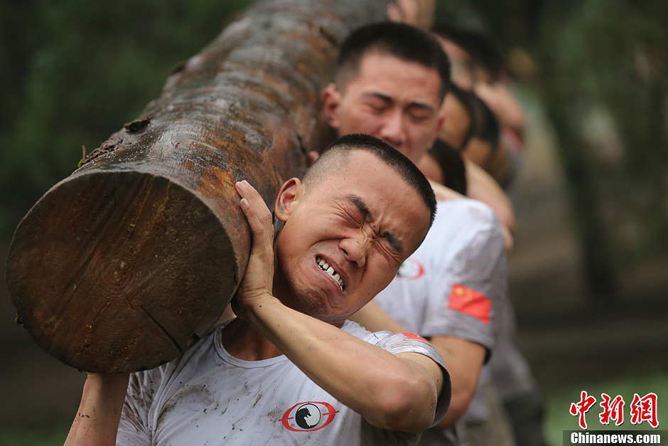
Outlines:
[[[342, 329], [392, 354], [424, 354], [443, 367], [438, 351], [418, 336], [372, 333], [350, 321]], [[231, 356], [222, 346], [221, 331], [174, 361], [131, 375], [118, 445], [417, 444], [419, 434], [367, 423], [286, 356], [262, 361]], [[446, 373], [435, 423], [449, 402]]]

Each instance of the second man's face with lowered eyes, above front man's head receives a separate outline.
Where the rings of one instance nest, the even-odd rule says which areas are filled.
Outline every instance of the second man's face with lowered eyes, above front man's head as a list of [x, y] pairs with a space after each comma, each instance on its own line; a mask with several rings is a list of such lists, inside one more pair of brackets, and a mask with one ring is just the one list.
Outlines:
[[438, 71], [371, 51], [358, 73], [323, 91], [323, 112], [339, 136], [365, 133], [417, 163], [433, 145], [443, 118]]

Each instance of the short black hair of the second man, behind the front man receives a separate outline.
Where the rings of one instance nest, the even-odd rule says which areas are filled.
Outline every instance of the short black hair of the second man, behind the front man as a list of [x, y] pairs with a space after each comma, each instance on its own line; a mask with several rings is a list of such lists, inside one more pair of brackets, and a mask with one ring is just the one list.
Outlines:
[[[448, 56], [430, 33], [390, 21], [370, 23], [355, 29], [345, 38], [336, 61], [336, 81], [344, 84], [348, 73], [357, 73], [360, 61], [369, 51], [392, 55], [407, 62], [433, 68], [441, 78], [441, 100], [450, 87], [450, 62]], [[343, 87], [343, 85], [340, 85]]]

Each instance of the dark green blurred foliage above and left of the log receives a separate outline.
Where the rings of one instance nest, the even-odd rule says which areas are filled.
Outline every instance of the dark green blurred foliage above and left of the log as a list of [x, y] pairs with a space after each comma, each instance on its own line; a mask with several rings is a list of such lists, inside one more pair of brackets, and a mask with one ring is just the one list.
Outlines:
[[158, 96], [247, 0], [3, 2], [0, 234]]

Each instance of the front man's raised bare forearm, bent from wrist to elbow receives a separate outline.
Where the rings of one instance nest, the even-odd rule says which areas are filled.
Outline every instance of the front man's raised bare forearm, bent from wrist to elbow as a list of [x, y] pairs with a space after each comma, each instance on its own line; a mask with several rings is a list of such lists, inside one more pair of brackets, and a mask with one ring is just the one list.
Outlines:
[[256, 302], [246, 314], [318, 386], [372, 425], [409, 431], [431, 425], [441, 383], [421, 367], [274, 297]]

